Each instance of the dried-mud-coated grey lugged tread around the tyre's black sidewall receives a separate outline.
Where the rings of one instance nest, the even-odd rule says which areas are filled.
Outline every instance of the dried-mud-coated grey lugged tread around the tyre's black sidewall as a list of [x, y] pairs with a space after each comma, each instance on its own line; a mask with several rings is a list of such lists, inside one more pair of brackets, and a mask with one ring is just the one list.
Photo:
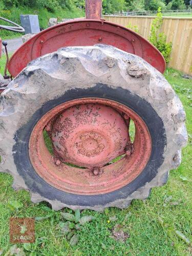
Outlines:
[[[100, 92], [102, 84], [107, 84], [111, 90], [120, 88], [129, 91], [131, 95], [139, 97], [136, 104], [138, 109], [142, 108], [142, 101], [148, 102], [163, 122], [166, 146], [161, 166], [152, 180], [129, 195], [122, 193], [121, 198], [110, 201], [110, 196], [106, 194], [105, 199], [109, 199], [109, 202], [101, 201], [100, 204], [90, 202], [89, 205], [87, 201], [82, 201], [79, 205], [75, 205], [73, 201], [65, 203], [65, 196], [62, 200], [50, 199], [49, 191], [47, 197], [40, 195], [38, 188], [42, 184], [40, 181], [35, 183], [30, 178], [29, 168], [24, 166], [28, 175], [27, 182], [18, 171], [14, 159], [18, 153], [14, 150], [15, 141], [23, 145], [26, 143], [25, 137], [18, 137], [19, 129], [26, 127], [32, 116], [36, 115], [38, 119], [47, 102], [55, 102], [65, 93], [66, 97], [77, 97], [79, 91], [74, 88], [74, 84], [78, 90], [93, 91], [97, 84], [97, 91]], [[103, 97], [107, 96], [108, 93], [103, 93]], [[150, 117], [153, 119], [154, 115]], [[12, 187], [15, 190], [30, 190], [33, 203], [47, 201], [55, 210], [63, 207], [97, 211], [111, 206], [126, 208], [133, 199], [147, 198], [152, 187], [165, 184], [169, 170], [180, 165], [181, 148], [187, 142], [185, 118], [182, 103], [172, 87], [162, 74], [142, 58], [106, 45], [59, 49], [31, 61], [0, 96], [0, 172], [13, 176]], [[22, 156], [19, 161], [22, 162]], [[152, 169], [151, 172], [153, 171]], [[28, 184], [34, 184], [33, 189]]]

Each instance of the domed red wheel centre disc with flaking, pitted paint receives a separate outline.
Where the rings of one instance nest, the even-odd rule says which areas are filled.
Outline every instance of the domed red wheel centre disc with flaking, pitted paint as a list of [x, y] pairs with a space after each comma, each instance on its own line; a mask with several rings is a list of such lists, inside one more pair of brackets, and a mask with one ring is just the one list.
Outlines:
[[51, 137], [62, 162], [92, 168], [124, 154], [128, 134], [119, 112], [90, 103], [63, 111], [54, 122]]

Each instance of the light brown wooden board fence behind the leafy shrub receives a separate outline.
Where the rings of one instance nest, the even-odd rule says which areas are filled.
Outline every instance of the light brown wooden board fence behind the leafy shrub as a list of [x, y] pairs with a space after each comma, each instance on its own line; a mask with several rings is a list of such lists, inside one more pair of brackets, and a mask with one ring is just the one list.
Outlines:
[[[137, 26], [139, 33], [148, 38], [152, 16], [104, 16], [106, 20], [127, 27], [129, 23]], [[192, 74], [192, 18], [163, 17], [160, 32], [167, 36], [167, 42], [172, 42], [171, 59], [168, 67]]]

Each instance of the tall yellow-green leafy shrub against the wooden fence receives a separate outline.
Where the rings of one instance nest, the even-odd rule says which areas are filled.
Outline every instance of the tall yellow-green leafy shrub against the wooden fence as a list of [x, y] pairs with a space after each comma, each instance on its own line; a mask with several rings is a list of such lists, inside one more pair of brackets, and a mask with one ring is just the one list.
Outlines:
[[172, 42], [166, 42], [166, 35], [163, 32], [159, 33], [162, 23], [163, 15], [161, 13], [161, 7], [159, 7], [157, 17], [152, 22], [148, 40], [162, 53], [166, 63], [168, 63], [170, 60], [170, 53], [172, 51]]

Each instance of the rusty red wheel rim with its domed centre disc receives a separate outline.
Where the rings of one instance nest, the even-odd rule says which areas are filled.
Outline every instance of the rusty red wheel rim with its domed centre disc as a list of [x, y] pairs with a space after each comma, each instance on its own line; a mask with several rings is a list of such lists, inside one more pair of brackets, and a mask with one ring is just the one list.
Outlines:
[[[133, 145], [129, 118], [135, 124]], [[45, 127], [54, 156], [45, 144]], [[53, 187], [77, 195], [99, 195], [136, 179], [151, 148], [147, 126], [133, 110], [109, 99], [81, 98], [60, 104], [40, 118], [30, 136], [29, 156], [36, 173]]]

